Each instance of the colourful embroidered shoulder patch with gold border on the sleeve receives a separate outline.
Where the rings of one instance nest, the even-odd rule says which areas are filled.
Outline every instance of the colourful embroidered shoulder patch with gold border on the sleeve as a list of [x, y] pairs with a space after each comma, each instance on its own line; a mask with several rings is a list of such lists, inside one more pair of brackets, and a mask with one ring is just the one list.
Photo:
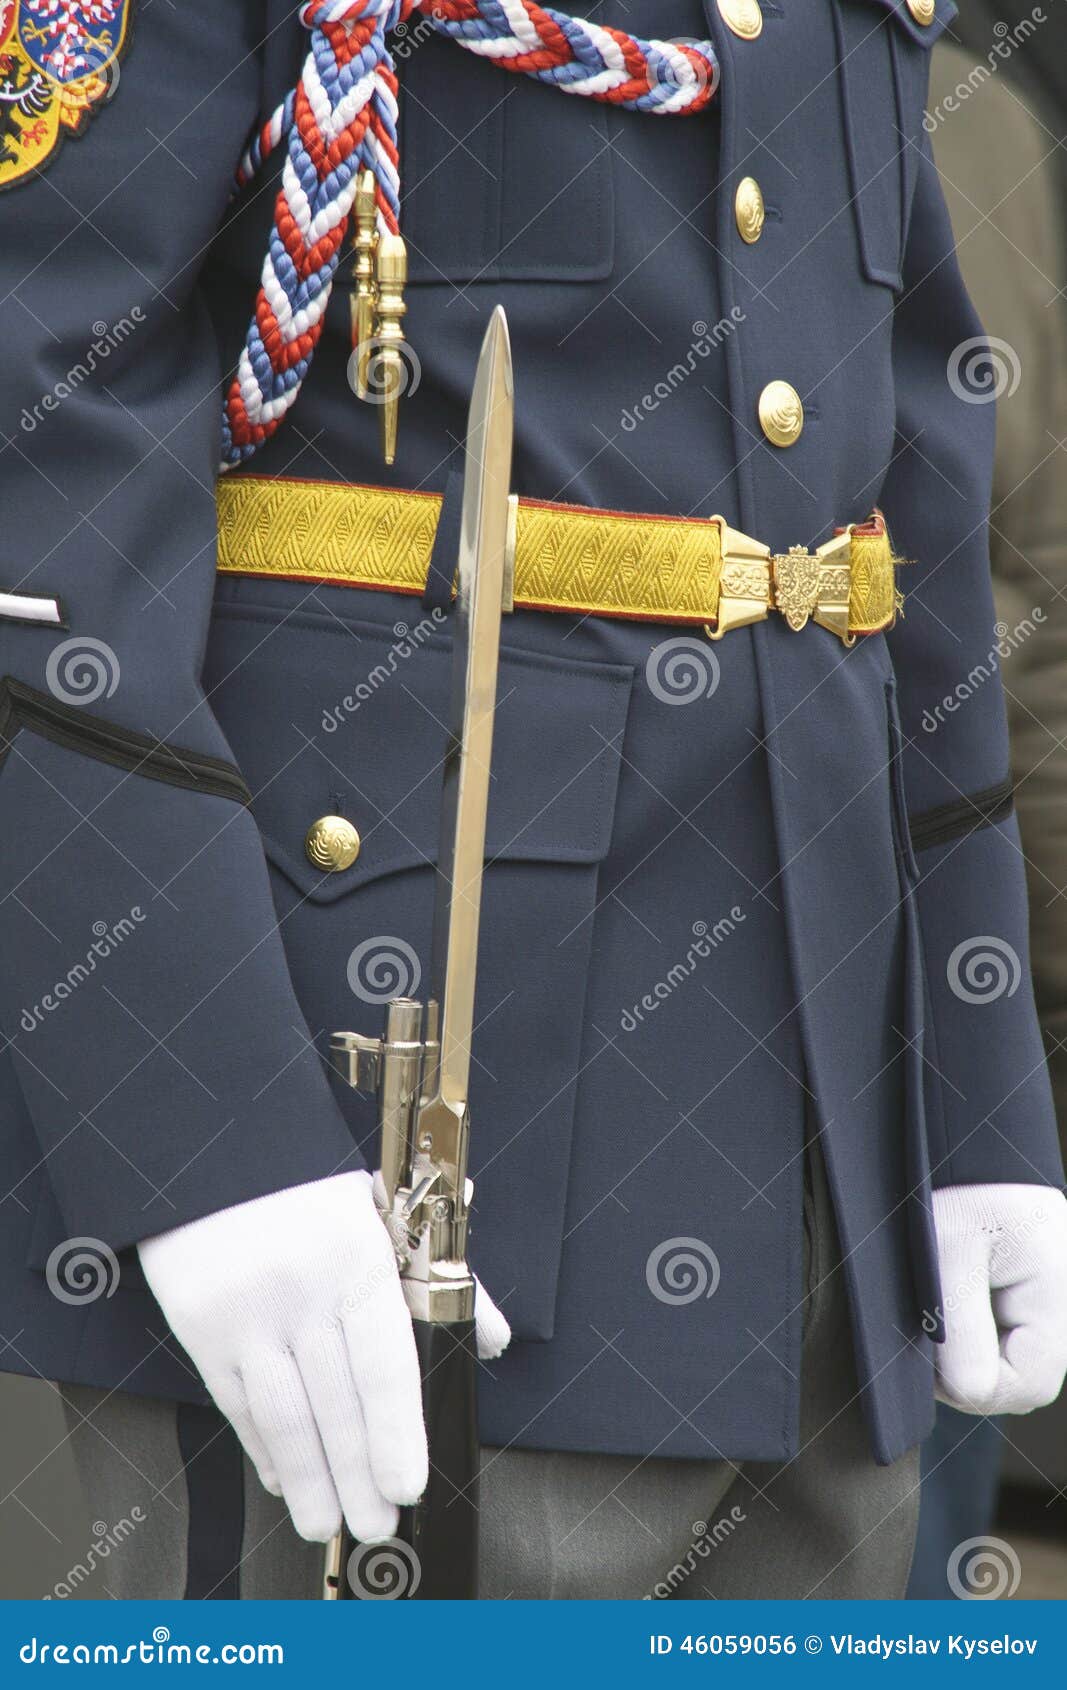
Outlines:
[[0, 189], [30, 181], [118, 86], [134, 0], [0, 0]]

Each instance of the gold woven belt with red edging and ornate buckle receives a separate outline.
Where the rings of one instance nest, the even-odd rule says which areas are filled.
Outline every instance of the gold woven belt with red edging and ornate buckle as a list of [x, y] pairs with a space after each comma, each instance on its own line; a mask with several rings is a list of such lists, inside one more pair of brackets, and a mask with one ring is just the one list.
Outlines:
[[[421, 593], [438, 493], [342, 482], [218, 482], [218, 568], [330, 586]], [[879, 510], [817, 551], [771, 553], [724, 517], [649, 517], [512, 499], [509, 608], [692, 622], [720, 639], [769, 610], [851, 646], [893, 625], [895, 564]]]

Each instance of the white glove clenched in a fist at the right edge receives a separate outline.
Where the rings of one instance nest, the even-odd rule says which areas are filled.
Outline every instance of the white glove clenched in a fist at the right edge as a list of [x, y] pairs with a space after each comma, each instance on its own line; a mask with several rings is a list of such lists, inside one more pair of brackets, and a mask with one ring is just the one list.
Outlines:
[[1047, 1185], [933, 1193], [945, 1303], [935, 1394], [967, 1415], [1026, 1415], [1067, 1369], [1067, 1198]]

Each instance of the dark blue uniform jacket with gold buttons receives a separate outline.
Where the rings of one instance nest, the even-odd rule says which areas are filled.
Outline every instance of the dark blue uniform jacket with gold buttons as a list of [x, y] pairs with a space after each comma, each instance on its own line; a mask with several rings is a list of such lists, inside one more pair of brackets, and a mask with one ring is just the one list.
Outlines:
[[[905, 615], [852, 651], [781, 617], [714, 647], [506, 624], [473, 1259], [516, 1332], [487, 1440], [785, 1457], [818, 1131], [886, 1460], [932, 1420], [930, 1186], [1062, 1178], [988, 578], [993, 407], [955, 373], [981, 328], [923, 130], [954, 7], [923, 27], [905, 0], [768, 0], [756, 41], [712, 0], [587, 12], [710, 32], [714, 106], [621, 113], [411, 41], [423, 375], [396, 468], [345, 384], [338, 294], [291, 419], [237, 473], [440, 490], [501, 301], [519, 493], [722, 512], [776, 551], [884, 510]], [[220, 390], [277, 179], [230, 204], [232, 169], [304, 46], [286, 5], [144, 7], [108, 106], [0, 199], [0, 588], [59, 595], [68, 624], [0, 622], [2, 1364], [189, 1399], [132, 1246], [374, 1166], [372, 1107], [325, 1043], [377, 1031], [397, 982], [360, 962], [413, 985], [430, 938], [446, 620], [215, 573]], [[788, 448], [758, 421], [773, 380], [805, 407]], [[675, 637], [707, 671], [687, 703], [661, 684]], [[304, 835], [338, 813], [362, 850], [323, 874]], [[56, 1295], [78, 1239], [115, 1254], [112, 1295]], [[707, 1283], [671, 1278], [678, 1252]]]

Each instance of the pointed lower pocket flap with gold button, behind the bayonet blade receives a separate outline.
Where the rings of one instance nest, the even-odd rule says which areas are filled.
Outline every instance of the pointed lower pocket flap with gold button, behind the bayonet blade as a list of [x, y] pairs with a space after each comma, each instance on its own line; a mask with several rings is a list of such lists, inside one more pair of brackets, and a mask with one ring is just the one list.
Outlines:
[[[436, 860], [450, 671], [451, 644], [430, 619], [408, 629], [220, 607], [206, 684], [267, 855], [306, 897], [331, 902]], [[629, 690], [629, 668], [501, 652], [487, 859], [604, 857]], [[335, 874], [304, 852], [325, 815], [360, 837]]]

